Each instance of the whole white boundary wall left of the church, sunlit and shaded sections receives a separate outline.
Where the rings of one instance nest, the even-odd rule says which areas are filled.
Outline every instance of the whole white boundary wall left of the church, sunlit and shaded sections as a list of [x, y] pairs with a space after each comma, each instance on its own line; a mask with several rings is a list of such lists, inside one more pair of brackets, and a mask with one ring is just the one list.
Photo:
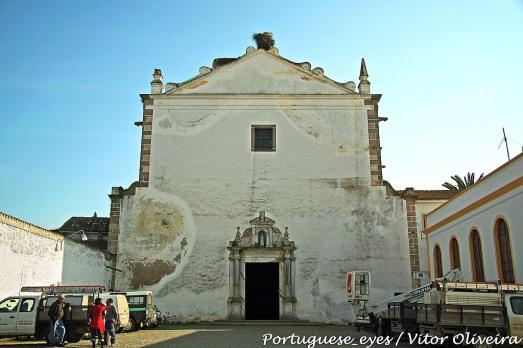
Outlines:
[[108, 285], [109, 264], [101, 250], [0, 213], [0, 298], [22, 286]]

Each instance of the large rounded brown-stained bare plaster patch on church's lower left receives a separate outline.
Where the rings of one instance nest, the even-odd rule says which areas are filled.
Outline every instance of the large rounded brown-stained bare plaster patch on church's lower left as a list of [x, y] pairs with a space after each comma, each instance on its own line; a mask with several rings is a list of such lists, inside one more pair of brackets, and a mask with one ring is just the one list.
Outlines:
[[194, 235], [187, 204], [152, 188], [125, 197], [120, 226], [118, 268], [126, 282], [117, 287], [123, 289], [150, 288], [174, 274]]

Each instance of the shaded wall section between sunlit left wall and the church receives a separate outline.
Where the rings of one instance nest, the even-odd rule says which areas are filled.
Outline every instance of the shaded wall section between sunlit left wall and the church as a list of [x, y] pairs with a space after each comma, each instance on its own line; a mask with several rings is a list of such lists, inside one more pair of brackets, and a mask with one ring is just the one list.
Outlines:
[[82, 245], [81, 242], [66, 239], [63, 247], [64, 267], [62, 284], [109, 285], [110, 265], [102, 250]]

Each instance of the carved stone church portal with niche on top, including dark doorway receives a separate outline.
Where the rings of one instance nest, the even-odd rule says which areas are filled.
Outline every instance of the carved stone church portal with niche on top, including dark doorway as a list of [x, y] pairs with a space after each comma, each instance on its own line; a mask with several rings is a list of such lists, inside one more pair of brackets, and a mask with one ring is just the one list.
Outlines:
[[260, 215], [229, 242], [229, 320], [296, 319], [296, 246]]

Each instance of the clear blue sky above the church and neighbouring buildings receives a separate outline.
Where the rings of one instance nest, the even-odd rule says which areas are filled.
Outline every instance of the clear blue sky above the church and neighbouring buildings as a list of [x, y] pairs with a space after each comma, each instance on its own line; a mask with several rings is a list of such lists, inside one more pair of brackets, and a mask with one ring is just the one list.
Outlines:
[[186, 80], [260, 31], [341, 82], [365, 57], [397, 189], [492, 171], [502, 127], [521, 152], [522, 1], [0, 1], [0, 211], [47, 228], [107, 216], [138, 176], [153, 69]]

